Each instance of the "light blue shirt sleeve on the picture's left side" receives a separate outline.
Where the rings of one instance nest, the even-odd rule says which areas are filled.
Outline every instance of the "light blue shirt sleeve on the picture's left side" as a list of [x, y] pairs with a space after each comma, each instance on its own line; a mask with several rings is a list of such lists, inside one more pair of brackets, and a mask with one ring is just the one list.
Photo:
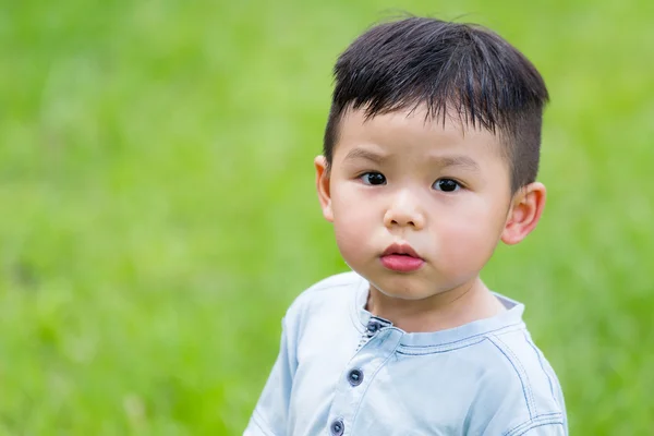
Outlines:
[[289, 401], [298, 362], [290, 347], [286, 319], [277, 361], [264, 391], [252, 413], [243, 436], [284, 436], [288, 428]]

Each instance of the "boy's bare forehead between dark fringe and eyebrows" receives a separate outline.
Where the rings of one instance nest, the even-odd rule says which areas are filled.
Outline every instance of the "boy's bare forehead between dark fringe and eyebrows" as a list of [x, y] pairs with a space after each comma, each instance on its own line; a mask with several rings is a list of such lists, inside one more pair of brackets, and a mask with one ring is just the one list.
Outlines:
[[364, 109], [348, 110], [338, 128], [335, 160], [354, 147], [373, 148], [396, 157], [422, 159], [426, 155], [468, 156], [480, 165], [505, 160], [500, 137], [445, 116], [431, 119], [427, 109], [399, 110], [367, 118]]

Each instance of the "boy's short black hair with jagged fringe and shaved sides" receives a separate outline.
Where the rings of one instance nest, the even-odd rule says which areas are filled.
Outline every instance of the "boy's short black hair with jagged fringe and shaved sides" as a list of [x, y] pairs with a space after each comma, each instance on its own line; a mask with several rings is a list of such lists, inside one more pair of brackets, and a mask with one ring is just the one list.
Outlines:
[[431, 120], [453, 117], [499, 135], [512, 192], [536, 179], [547, 88], [535, 66], [494, 32], [415, 16], [379, 24], [341, 53], [334, 75], [324, 138], [328, 170], [347, 110], [364, 109], [370, 119], [424, 105]]

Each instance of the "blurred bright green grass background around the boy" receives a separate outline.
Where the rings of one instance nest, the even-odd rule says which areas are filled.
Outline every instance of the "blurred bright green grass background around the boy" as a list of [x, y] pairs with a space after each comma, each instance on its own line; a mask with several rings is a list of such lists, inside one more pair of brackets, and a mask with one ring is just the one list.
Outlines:
[[346, 270], [314, 194], [338, 53], [397, 13], [488, 25], [552, 94], [526, 304], [574, 435], [654, 434], [650, 1], [3, 1], [0, 434], [239, 435], [280, 318]]

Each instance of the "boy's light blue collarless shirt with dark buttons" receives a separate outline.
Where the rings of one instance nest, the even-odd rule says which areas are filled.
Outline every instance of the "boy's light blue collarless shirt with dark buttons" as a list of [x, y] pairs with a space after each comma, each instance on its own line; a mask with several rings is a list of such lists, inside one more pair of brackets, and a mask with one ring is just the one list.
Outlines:
[[408, 334], [365, 307], [355, 272], [302, 293], [245, 436], [567, 435], [554, 371], [524, 306], [436, 332]]

